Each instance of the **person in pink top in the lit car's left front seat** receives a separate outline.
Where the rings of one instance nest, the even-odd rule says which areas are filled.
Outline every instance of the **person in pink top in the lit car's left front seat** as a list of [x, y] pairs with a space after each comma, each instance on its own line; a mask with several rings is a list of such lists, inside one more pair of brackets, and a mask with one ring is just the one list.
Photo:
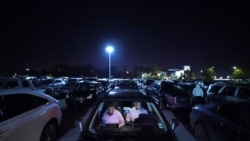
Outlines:
[[114, 103], [108, 103], [107, 110], [102, 116], [101, 124], [118, 124], [119, 128], [125, 125], [125, 120], [120, 111], [115, 109]]

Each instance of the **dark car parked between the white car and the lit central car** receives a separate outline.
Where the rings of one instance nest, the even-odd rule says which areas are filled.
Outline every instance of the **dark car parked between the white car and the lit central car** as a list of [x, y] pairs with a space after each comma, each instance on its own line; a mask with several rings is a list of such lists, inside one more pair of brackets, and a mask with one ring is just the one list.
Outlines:
[[100, 82], [84, 81], [79, 83], [75, 89], [66, 94], [65, 102], [68, 107], [92, 104], [104, 95], [104, 87]]

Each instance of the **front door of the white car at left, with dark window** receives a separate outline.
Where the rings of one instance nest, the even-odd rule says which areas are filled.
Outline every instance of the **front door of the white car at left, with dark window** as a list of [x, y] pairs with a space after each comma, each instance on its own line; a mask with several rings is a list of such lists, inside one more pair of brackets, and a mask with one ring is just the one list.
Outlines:
[[[27, 94], [8, 95], [4, 104], [10, 128], [1, 141], [39, 141], [44, 126], [44, 111], [42, 106], [37, 105], [35, 97]], [[8, 127], [7, 123], [5, 127]]]

